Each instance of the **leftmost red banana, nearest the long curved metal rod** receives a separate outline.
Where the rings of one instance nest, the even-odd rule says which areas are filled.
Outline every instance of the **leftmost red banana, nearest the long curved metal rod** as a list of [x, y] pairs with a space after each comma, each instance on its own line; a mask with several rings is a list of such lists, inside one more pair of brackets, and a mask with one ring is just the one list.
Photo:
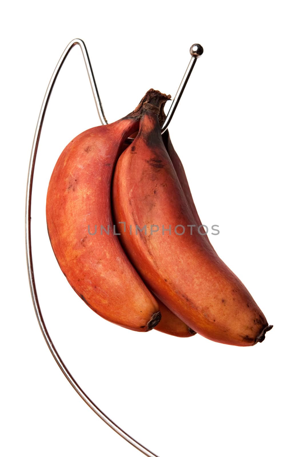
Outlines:
[[115, 162], [138, 129], [144, 101], [127, 117], [86, 130], [66, 146], [46, 204], [51, 245], [75, 292], [104, 319], [142, 332], [154, 328], [161, 314], [119, 243], [110, 197]]

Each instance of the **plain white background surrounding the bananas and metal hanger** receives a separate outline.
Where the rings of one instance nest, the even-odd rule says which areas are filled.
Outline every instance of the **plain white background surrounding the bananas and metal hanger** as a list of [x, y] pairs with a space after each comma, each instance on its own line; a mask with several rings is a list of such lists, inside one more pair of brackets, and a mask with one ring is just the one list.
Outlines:
[[138, 334], [101, 319], [70, 288], [48, 241], [44, 207], [60, 152], [99, 124], [74, 48], [51, 97], [33, 190], [37, 289], [59, 353], [91, 399], [161, 457], [300, 456], [303, 2], [17, 1], [2, 7], [1, 35], [2, 455], [140, 455], [66, 381], [28, 287], [24, 204], [32, 138], [55, 64], [79, 37], [110, 122], [132, 111], [150, 87], [175, 95], [188, 48], [203, 45], [171, 122], [172, 142], [203, 223], [220, 226], [210, 237], [215, 249], [274, 328], [246, 348], [199, 335]]

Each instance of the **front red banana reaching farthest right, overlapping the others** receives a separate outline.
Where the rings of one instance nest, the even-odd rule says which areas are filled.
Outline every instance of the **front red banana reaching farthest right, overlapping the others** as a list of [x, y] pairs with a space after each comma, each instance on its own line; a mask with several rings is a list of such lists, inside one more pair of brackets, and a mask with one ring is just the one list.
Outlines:
[[142, 230], [122, 233], [121, 242], [145, 283], [190, 328], [220, 343], [254, 345], [272, 326], [198, 226], [161, 137], [166, 100], [151, 93], [115, 168], [115, 220]]

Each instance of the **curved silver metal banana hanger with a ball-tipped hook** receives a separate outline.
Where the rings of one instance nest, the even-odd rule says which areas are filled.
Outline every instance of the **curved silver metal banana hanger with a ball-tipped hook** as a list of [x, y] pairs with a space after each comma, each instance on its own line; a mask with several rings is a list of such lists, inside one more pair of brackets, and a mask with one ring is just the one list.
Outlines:
[[[52, 74], [51, 80], [48, 84], [47, 91], [45, 93], [45, 96], [43, 98], [43, 104], [41, 106], [41, 110], [39, 113], [38, 121], [37, 121], [37, 127], [35, 130], [35, 136], [33, 140], [33, 145], [32, 145], [32, 152], [31, 152], [31, 158], [30, 158], [30, 164], [29, 164], [29, 170], [28, 170], [28, 176], [27, 176], [27, 197], [26, 197], [26, 251], [27, 251], [27, 271], [28, 271], [28, 276], [29, 276], [29, 282], [30, 282], [30, 289], [31, 289], [31, 294], [32, 294], [32, 300], [33, 300], [33, 305], [35, 308], [35, 313], [36, 317], [40, 326], [40, 329], [43, 333], [44, 339], [46, 340], [46, 343], [48, 345], [49, 350], [51, 351], [55, 361], [57, 362], [59, 368], [61, 371], [64, 373], [64, 376], [68, 379], [69, 383], [71, 386], [76, 390], [76, 392], [80, 395], [80, 397], [84, 400], [84, 402], [90, 406], [90, 408], [104, 421], [106, 422], [109, 427], [111, 427], [114, 431], [116, 431], [122, 438], [124, 438], [128, 443], [130, 443], [132, 446], [134, 446], [136, 449], [139, 451], [143, 452], [143, 454], [147, 457], [158, 457], [156, 454], [151, 452], [149, 449], [144, 447], [142, 444], [140, 444], [138, 441], [136, 441], [132, 436], [128, 435], [124, 430], [122, 430], [118, 425], [116, 425], [109, 417], [107, 417], [106, 414], [102, 412], [101, 409], [96, 406], [95, 403], [86, 395], [86, 393], [82, 390], [82, 388], [78, 385], [78, 383], [75, 381], [74, 377], [71, 375], [69, 372], [68, 368], [65, 366], [64, 361], [61, 359], [59, 356], [58, 351], [56, 350], [53, 341], [48, 333], [48, 329], [46, 327], [46, 324], [43, 320], [43, 315], [40, 309], [39, 301], [38, 301], [38, 296], [37, 296], [37, 290], [36, 290], [36, 285], [35, 285], [35, 277], [34, 277], [34, 268], [33, 268], [33, 259], [32, 259], [32, 243], [31, 243], [31, 203], [32, 203], [32, 185], [33, 185], [33, 177], [34, 177], [34, 168], [35, 168], [35, 162], [36, 162], [36, 155], [37, 155], [37, 149], [38, 149], [38, 144], [39, 144], [39, 138], [40, 138], [40, 133], [41, 129], [43, 126], [43, 119], [45, 112], [47, 110], [48, 106], [48, 101], [52, 92], [52, 89], [54, 87], [56, 78], [59, 74], [59, 71], [64, 64], [64, 61], [68, 54], [70, 53], [70, 50], [75, 46], [78, 45], [80, 46], [81, 52], [83, 54], [83, 58], [85, 61], [87, 73], [89, 76], [90, 84], [91, 84], [91, 89], [93, 93], [93, 97], [96, 103], [96, 109], [99, 115], [99, 118], [102, 122], [102, 124], [107, 124], [107, 119], [105, 117], [103, 108], [102, 108], [102, 103], [100, 100], [100, 96], [97, 90], [96, 86], [96, 81], [94, 78], [94, 74], [92, 71], [89, 55], [87, 52], [87, 48], [85, 43], [80, 40], [79, 38], [76, 38], [75, 40], [72, 40], [68, 46], [65, 48], [63, 54], [61, 55], [58, 64], [56, 65], [54, 72]], [[174, 97], [169, 112], [166, 116], [165, 122], [163, 123], [162, 126], [162, 133], [166, 131], [168, 128], [169, 123], [171, 122], [171, 118], [177, 108], [177, 105], [179, 103], [179, 100], [182, 96], [183, 90], [185, 86], [187, 85], [188, 78], [190, 77], [190, 74], [193, 71], [194, 65], [197, 61], [197, 58], [200, 57], [203, 53], [203, 48], [200, 44], [193, 44], [190, 48], [190, 53], [191, 53], [191, 60], [190, 63], [187, 66], [187, 70], [182, 78], [181, 84], [177, 90], [177, 94]], [[132, 141], [132, 138], [130, 138], [130, 141]]]

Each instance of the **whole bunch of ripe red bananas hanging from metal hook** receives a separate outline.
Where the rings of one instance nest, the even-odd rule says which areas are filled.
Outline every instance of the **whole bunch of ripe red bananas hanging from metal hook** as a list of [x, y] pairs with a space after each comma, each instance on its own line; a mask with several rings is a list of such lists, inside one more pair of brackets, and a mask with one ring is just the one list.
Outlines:
[[115, 324], [254, 345], [272, 326], [204, 233], [161, 135], [169, 98], [150, 89], [128, 116], [64, 149], [47, 195], [54, 254], [80, 298]]

